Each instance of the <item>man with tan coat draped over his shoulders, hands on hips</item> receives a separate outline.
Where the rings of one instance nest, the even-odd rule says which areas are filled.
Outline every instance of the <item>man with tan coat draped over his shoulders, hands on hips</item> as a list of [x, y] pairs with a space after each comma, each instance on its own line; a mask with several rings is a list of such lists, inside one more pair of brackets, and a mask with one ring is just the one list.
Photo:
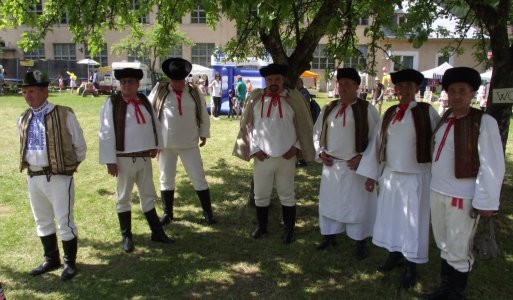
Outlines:
[[288, 67], [270, 64], [260, 69], [266, 88], [255, 89], [248, 97], [241, 130], [233, 154], [243, 160], [253, 158], [254, 197], [258, 226], [251, 234], [258, 239], [267, 233], [273, 185], [282, 205], [285, 231], [283, 242], [293, 240], [296, 223], [294, 176], [296, 155], [311, 161], [312, 118], [303, 96], [284, 87]]

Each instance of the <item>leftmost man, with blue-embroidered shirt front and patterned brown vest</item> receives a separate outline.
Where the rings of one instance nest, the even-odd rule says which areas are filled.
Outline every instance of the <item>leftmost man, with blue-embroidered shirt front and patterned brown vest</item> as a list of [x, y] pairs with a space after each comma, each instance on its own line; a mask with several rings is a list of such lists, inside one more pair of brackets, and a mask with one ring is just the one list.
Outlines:
[[84, 161], [87, 146], [73, 110], [48, 102], [48, 83], [46, 75], [36, 70], [26, 73], [21, 85], [29, 109], [18, 119], [20, 171], [27, 169], [30, 205], [45, 259], [30, 275], [60, 268], [58, 231], [64, 250], [61, 280], [67, 281], [77, 273], [73, 173]]

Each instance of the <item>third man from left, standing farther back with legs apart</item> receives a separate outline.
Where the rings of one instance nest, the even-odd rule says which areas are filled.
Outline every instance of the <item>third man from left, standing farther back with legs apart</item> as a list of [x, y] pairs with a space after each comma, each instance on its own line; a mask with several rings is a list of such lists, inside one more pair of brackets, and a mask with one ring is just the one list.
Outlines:
[[162, 225], [173, 219], [178, 158], [201, 202], [205, 222], [208, 225], [216, 223], [199, 150], [210, 137], [210, 119], [203, 95], [192, 83], [185, 82], [191, 69], [192, 64], [185, 59], [165, 60], [162, 71], [170, 80], [158, 83], [149, 96], [162, 124], [163, 144], [159, 154], [160, 190], [164, 209], [160, 219]]

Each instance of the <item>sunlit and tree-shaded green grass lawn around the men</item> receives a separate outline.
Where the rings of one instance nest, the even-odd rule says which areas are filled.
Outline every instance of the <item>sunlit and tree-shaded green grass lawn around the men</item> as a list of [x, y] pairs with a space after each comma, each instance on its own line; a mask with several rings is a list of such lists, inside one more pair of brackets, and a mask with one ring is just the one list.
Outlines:
[[[98, 164], [98, 115], [104, 100], [50, 96], [51, 102], [74, 109], [88, 145], [87, 159], [75, 176], [79, 274], [63, 283], [60, 270], [38, 277], [28, 275], [43, 257], [26, 175], [18, 172], [15, 124], [27, 106], [21, 96], [0, 96], [0, 283], [7, 299], [420, 299], [438, 286], [440, 259], [433, 239], [430, 262], [419, 266], [419, 281], [411, 291], [398, 289], [402, 270], [388, 276], [376, 271], [386, 259], [384, 249], [371, 245], [370, 256], [358, 261], [353, 255], [354, 243], [345, 236], [338, 238], [336, 249], [315, 249], [321, 239], [317, 221], [321, 165], [317, 163], [297, 171], [296, 241], [284, 245], [280, 240], [281, 208], [276, 198], [271, 204], [269, 235], [260, 240], [250, 238], [256, 224], [254, 208], [247, 205], [251, 164], [231, 155], [239, 122], [224, 116], [212, 120], [212, 137], [202, 148], [218, 224], [201, 224], [199, 201], [179, 165], [177, 219], [166, 227], [176, 243], [150, 241], [134, 189], [136, 250], [124, 253], [115, 211], [115, 180]], [[329, 101], [317, 100], [321, 106]], [[391, 104], [386, 103], [383, 111]], [[496, 222], [502, 257], [476, 262], [467, 288], [469, 299], [511, 299], [513, 294], [512, 150], [510, 142]], [[158, 166], [155, 162], [153, 166], [158, 189]], [[156, 205], [161, 214], [160, 202]]]

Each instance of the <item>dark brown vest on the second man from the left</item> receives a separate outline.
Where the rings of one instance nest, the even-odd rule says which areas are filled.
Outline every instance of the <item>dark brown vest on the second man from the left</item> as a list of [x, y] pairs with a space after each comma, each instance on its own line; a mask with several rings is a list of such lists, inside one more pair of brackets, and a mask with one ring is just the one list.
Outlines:
[[[153, 126], [153, 137], [155, 138], [155, 145], [158, 145], [157, 127], [155, 126], [153, 107], [145, 95], [138, 93], [137, 97], [141, 100], [144, 108], [151, 115], [151, 125]], [[116, 150], [125, 151], [125, 121], [126, 110], [128, 103], [123, 100], [121, 94], [114, 94], [110, 96], [112, 102], [112, 118], [114, 120], [114, 134], [116, 135]]]

